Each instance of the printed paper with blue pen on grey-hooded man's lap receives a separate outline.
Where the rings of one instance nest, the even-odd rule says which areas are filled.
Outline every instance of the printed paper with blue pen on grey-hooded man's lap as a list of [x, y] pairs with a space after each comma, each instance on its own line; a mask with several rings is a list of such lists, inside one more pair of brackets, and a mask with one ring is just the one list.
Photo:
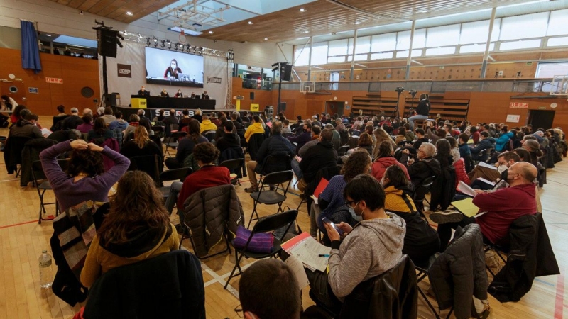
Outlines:
[[327, 258], [320, 257], [320, 254], [329, 254], [331, 247], [325, 247], [317, 242], [309, 233], [301, 233], [296, 237], [284, 242], [281, 247], [288, 254], [297, 257], [310, 269], [317, 269], [325, 272], [327, 268]]

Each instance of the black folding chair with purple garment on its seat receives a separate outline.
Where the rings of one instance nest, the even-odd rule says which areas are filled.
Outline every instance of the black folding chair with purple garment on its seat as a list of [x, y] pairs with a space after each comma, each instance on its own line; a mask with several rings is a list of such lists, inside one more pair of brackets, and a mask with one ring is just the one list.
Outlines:
[[[278, 256], [278, 252], [280, 252], [280, 250], [282, 249], [282, 247], [280, 247], [280, 243], [282, 242], [282, 240], [284, 240], [284, 236], [286, 235], [286, 233], [288, 233], [290, 227], [292, 227], [294, 220], [296, 220], [296, 217], [297, 217], [297, 211], [290, 210], [290, 211], [285, 211], [283, 213], [276, 213], [271, 216], [266, 216], [258, 220], [258, 222], [254, 225], [253, 230], [251, 231], [251, 235], [249, 236], [249, 239], [246, 241], [246, 244], [244, 245], [243, 249], [238, 249], [235, 247], [235, 266], [233, 267], [231, 275], [229, 275], [229, 279], [226, 280], [224, 289], [226, 289], [226, 287], [229, 286], [229, 281], [231, 281], [231, 279], [234, 276], [239, 276], [240, 274], [242, 274], [241, 259], [243, 259], [243, 257], [262, 259], [266, 257]], [[277, 230], [278, 228], [284, 228], [286, 226], [288, 226], [288, 228], [286, 228], [286, 231], [283, 233], [282, 237], [274, 238], [271, 252], [268, 253], [250, 252], [248, 250], [249, 244], [251, 243], [254, 234], [268, 233]], [[236, 269], [239, 269], [239, 274], [234, 274]]]

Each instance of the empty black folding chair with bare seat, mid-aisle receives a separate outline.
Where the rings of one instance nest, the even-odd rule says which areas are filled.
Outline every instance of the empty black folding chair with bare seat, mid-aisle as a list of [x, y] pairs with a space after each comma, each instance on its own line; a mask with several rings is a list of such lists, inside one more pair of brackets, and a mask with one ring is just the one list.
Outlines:
[[[280, 213], [283, 211], [282, 203], [286, 200], [286, 193], [288, 192], [288, 188], [290, 188], [290, 183], [292, 182], [292, 178], [294, 177], [294, 172], [292, 171], [283, 171], [283, 172], [274, 172], [268, 173], [262, 180], [261, 184], [258, 187], [258, 191], [251, 193], [251, 198], [253, 198], [254, 206], [253, 212], [251, 213], [251, 220], [249, 220], [249, 225], [246, 225], [246, 228], [249, 228], [251, 222], [253, 220], [258, 220], [258, 212], [256, 211], [256, 206], [259, 203], [265, 205], [275, 205], [278, 204], [278, 211], [276, 213]], [[288, 181], [288, 185], [286, 188], [283, 188], [283, 194], [278, 193], [278, 188], [274, 190], [270, 189], [270, 185], [279, 185], [284, 184]], [[256, 218], [254, 218], [256, 216]]]

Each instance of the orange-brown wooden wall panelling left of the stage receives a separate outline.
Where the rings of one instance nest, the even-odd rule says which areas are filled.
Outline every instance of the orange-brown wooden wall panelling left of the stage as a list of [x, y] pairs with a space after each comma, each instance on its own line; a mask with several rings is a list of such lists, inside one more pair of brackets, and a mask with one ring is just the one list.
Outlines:
[[[40, 53], [42, 71], [35, 74], [33, 71], [21, 68], [20, 50], [0, 48], [2, 63], [0, 64], [0, 79], [8, 79], [8, 74], [15, 74], [26, 87], [26, 101], [17, 101], [28, 106], [40, 116], [57, 114], [55, 109], [63, 104], [67, 111], [72, 108], [92, 108], [93, 99], [100, 99], [99, 90], [99, 61], [66, 57], [63, 55], [49, 55]], [[63, 84], [49, 84], [45, 77], [63, 79]], [[81, 89], [89, 86], [94, 90], [94, 96], [85, 98]], [[29, 87], [38, 88], [38, 94], [28, 93]], [[0, 92], [5, 94], [5, 92]]]

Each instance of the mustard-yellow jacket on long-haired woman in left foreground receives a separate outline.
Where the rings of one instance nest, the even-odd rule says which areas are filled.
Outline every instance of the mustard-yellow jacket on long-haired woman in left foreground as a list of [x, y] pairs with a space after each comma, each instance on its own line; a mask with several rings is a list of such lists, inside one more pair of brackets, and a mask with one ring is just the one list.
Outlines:
[[108, 272], [110, 269], [127, 264], [133, 264], [144, 259], [165, 254], [166, 252], [171, 252], [172, 250], [177, 250], [180, 246], [178, 232], [171, 224], [170, 228], [172, 232], [168, 238], [165, 238], [167, 230], [164, 230], [162, 238], [158, 241], [158, 245], [155, 245], [155, 247], [148, 252], [144, 252], [136, 257], [121, 257], [109, 252], [101, 247], [99, 244], [99, 236], [95, 235], [91, 242], [91, 246], [89, 247], [89, 252], [87, 252], [87, 259], [84, 261], [84, 267], [81, 271], [81, 283], [83, 286], [90, 287], [94, 284], [94, 281], [99, 279], [102, 274]]

